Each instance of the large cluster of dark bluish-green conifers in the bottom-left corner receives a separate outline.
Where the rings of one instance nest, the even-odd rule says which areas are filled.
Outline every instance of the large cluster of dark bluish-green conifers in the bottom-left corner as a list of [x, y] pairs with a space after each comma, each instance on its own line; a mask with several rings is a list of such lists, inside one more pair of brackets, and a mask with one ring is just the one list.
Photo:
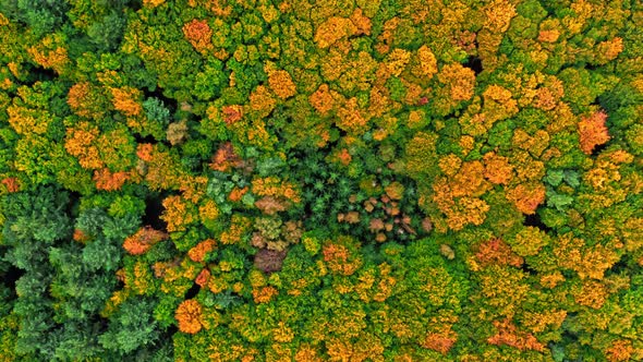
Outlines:
[[[71, 202], [69, 193], [51, 186], [2, 200], [4, 257], [22, 270], [13, 305], [20, 321], [16, 358], [134, 359], [151, 353], [161, 337], [151, 317], [154, 301], [133, 300], [109, 318], [101, 315], [117, 289], [122, 240], [141, 215], [132, 214], [134, 208], [120, 217], [99, 207], [72, 209]], [[81, 236], [76, 240], [74, 229]]]

